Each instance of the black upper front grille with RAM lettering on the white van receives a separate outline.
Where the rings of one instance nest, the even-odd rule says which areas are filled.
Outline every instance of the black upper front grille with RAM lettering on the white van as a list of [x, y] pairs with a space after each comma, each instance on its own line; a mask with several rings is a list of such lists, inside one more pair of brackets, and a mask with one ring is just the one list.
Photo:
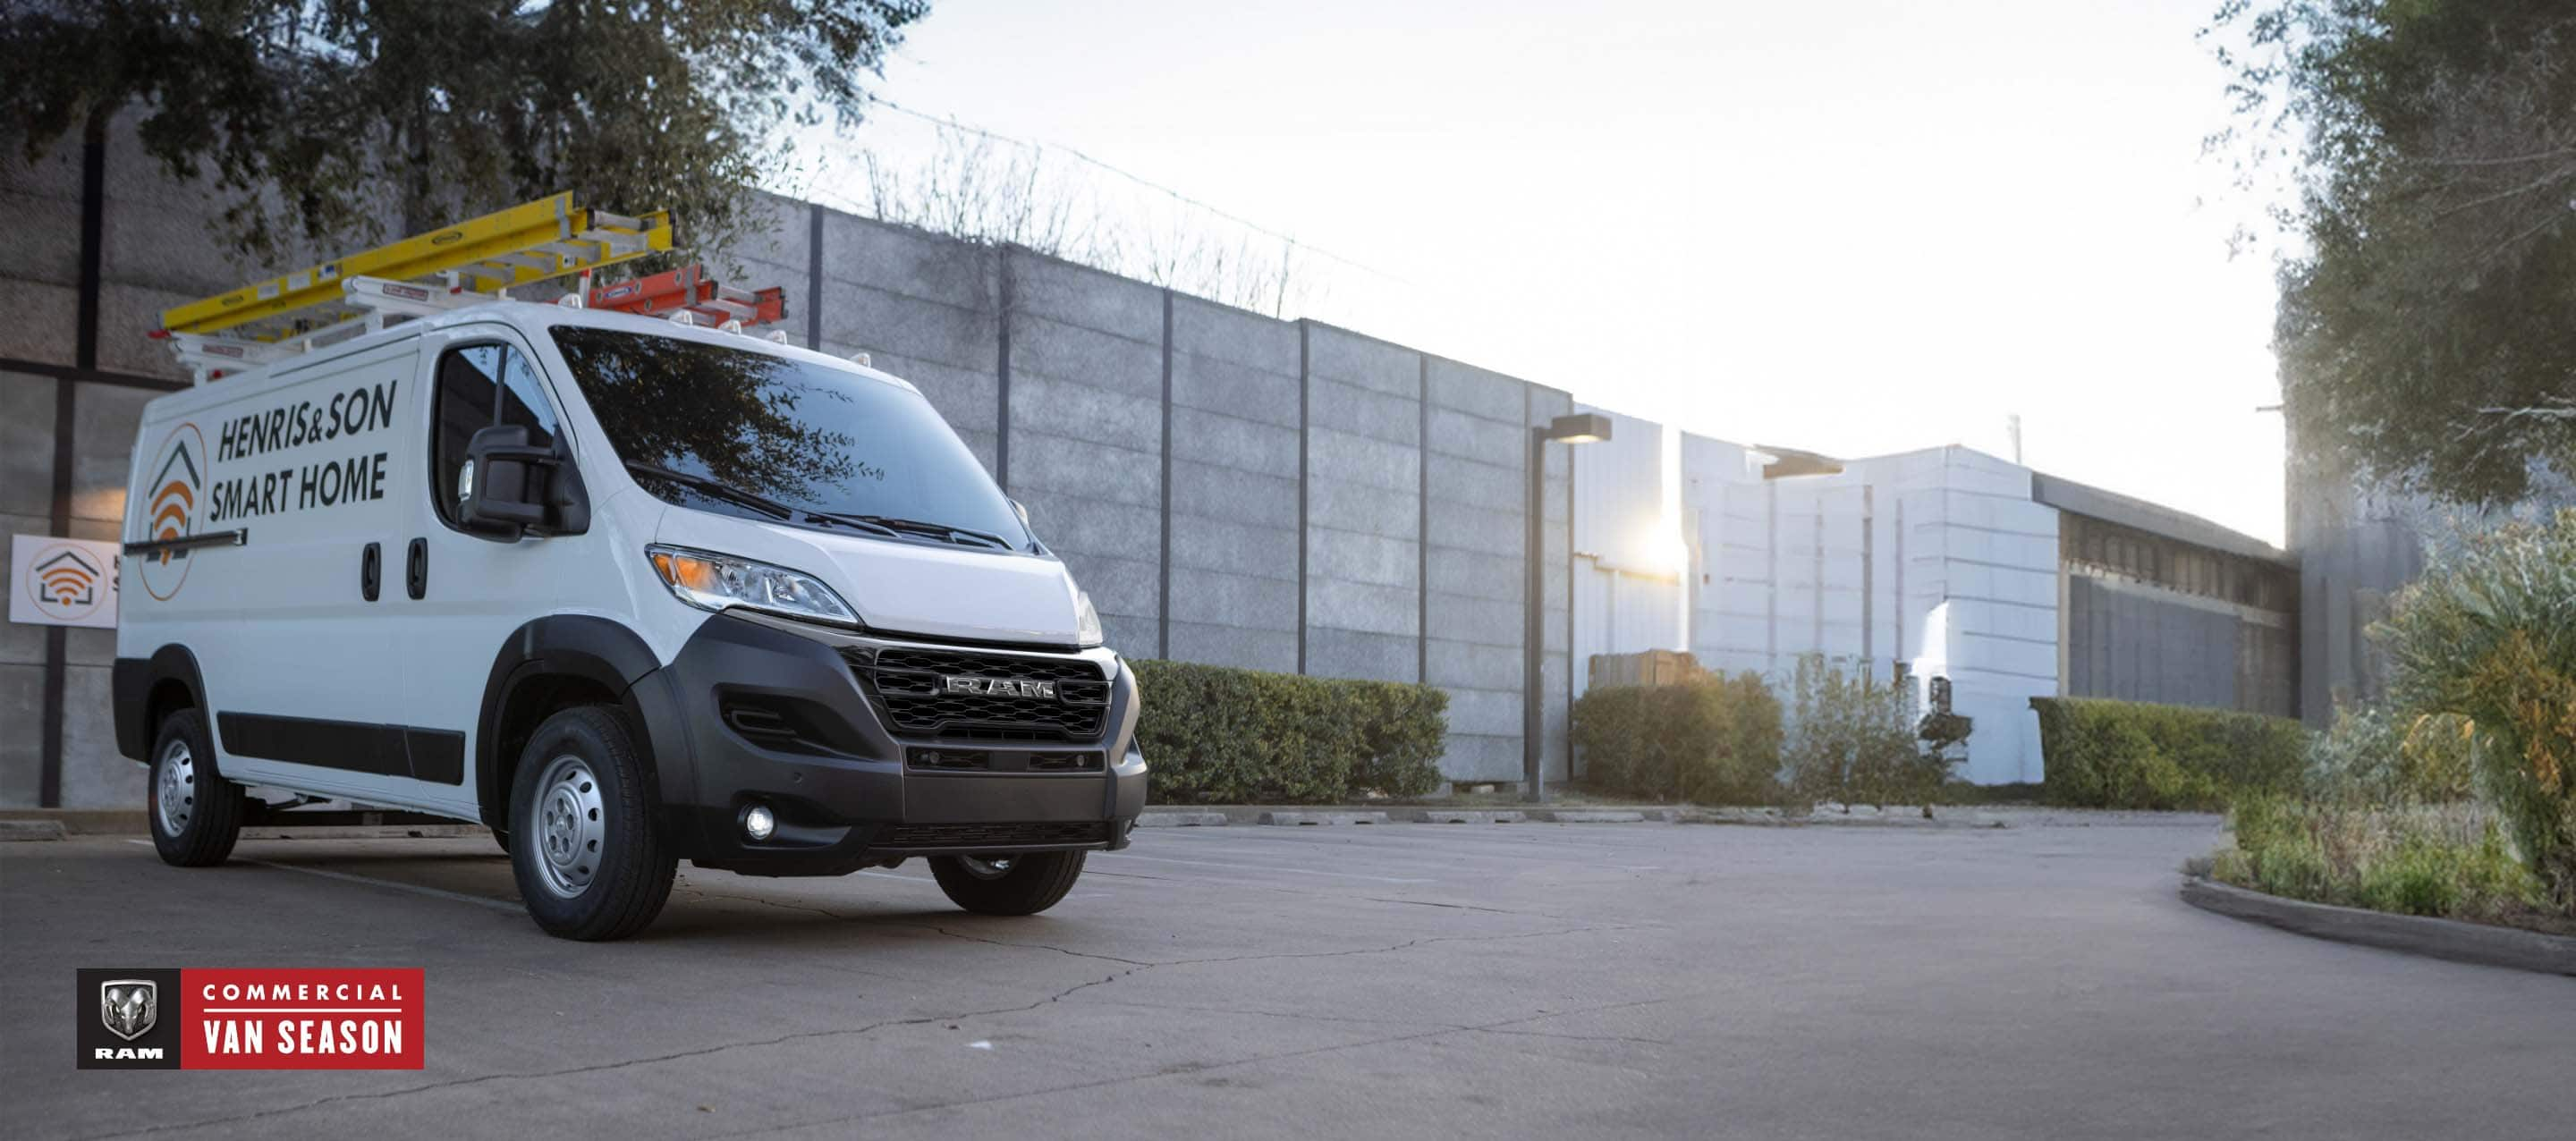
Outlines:
[[[886, 724], [907, 737], [974, 742], [1097, 742], [1110, 683], [1095, 662], [896, 646], [845, 649]], [[1054, 698], [948, 693], [948, 677], [1056, 683]]]

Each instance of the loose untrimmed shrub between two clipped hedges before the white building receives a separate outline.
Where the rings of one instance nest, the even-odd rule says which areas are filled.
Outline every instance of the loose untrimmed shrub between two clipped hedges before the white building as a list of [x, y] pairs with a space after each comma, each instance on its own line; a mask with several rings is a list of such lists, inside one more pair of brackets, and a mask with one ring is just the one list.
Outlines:
[[1942, 796], [1955, 765], [1945, 747], [1968, 737], [1968, 719], [1919, 724], [1914, 685], [1904, 677], [1880, 685], [1868, 670], [1844, 670], [1824, 654], [1798, 657], [1790, 693], [1783, 760], [1801, 801], [1886, 806]]

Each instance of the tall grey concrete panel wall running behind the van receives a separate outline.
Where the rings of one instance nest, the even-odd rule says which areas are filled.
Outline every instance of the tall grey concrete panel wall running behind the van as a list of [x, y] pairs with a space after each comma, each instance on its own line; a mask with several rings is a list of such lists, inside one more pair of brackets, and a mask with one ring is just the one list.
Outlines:
[[[144, 332], [260, 270], [219, 252], [206, 193], [124, 131], [100, 155], [95, 245], [82, 188], [77, 144], [36, 167], [0, 160], [18, 222], [0, 258], [0, 523], [113, 538], [139, 407], [185, 376]], [[793, 343], [914, 381], [1028, 505], [1115, 649], [1427, 680], [1450, 693], [1443, 770], [1520, 780], [1528, 425], [1569, 412], [1566, 391], [1025, 250], [786, 198], [760, 211], [760, 232], [706, 263], [786, 286]], [[95, 353], [80, 350], [82, 296]], [[1564, 446], [1543, 476], [1543, 752], [1564, 778]], [[0, 623], [0, 806], [142, 804], [106, 721], [111, 657], [108, 634]]]

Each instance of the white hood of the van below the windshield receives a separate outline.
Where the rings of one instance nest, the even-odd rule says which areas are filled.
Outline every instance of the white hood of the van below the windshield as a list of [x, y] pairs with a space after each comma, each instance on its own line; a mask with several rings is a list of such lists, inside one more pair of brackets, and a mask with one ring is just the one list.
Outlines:
[[654, 541], [811, 574], [871, 631], [1048, 646], [1082, 639], [1079, 587], [1051, 556], [788, 528], [688, 507], [665, 510]]

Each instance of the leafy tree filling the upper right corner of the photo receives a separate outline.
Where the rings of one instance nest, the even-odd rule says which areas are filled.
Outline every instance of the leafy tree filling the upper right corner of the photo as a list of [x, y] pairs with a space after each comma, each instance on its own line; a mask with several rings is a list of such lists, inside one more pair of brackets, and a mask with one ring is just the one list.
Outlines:
[[2241, 170], [2287, 170], [2300, 464], [2470, 505], [2576, 471], [2576, 8], [2228, 0]]

